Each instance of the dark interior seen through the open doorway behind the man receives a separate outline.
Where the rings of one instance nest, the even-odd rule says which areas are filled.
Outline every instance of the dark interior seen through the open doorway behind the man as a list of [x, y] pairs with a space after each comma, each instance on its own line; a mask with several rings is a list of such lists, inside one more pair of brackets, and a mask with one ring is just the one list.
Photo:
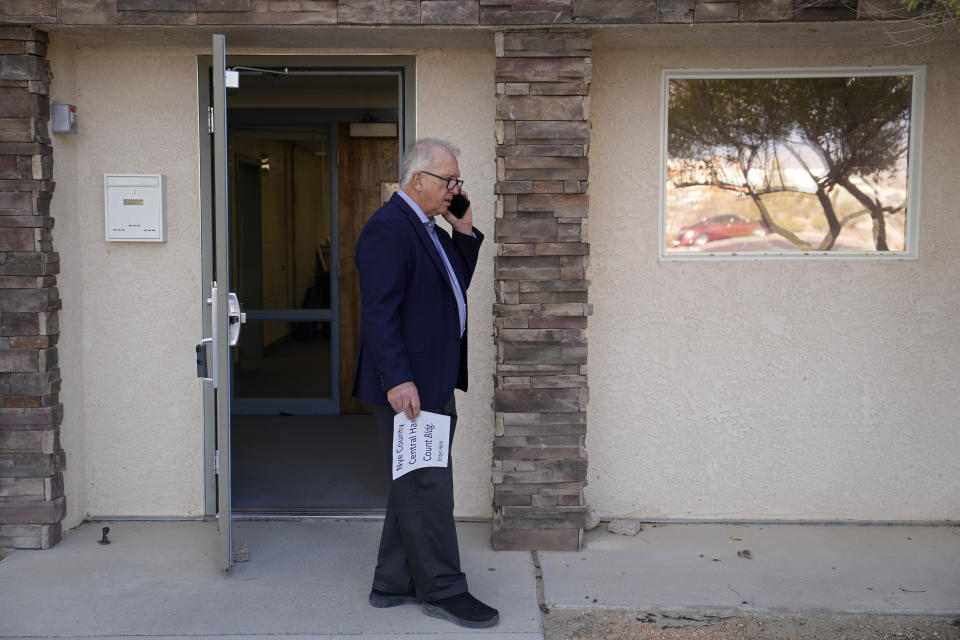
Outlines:
[[[350, 397], [354, 247], [396, 189], [412, 64], [244, 59], [227, 96], [230, 279], [247, 314], [232, 352], [233, 511], [375, 514], [390, 477]], [[338, 62], [342, 63], [343, 60]]]

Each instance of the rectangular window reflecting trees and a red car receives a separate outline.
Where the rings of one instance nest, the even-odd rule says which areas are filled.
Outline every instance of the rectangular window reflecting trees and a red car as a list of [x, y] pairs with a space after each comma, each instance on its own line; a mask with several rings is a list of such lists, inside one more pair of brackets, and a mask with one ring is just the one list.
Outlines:
[[661, 258], [916, 257], [922, 68], [663, 79]]

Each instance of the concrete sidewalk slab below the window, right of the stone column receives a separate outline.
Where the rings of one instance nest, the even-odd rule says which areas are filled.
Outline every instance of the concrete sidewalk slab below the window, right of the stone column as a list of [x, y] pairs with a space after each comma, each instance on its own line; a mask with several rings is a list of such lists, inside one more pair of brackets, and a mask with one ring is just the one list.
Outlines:
[[554, 608], [960, 613], [960, 527], [644, 525], [539, 553]]

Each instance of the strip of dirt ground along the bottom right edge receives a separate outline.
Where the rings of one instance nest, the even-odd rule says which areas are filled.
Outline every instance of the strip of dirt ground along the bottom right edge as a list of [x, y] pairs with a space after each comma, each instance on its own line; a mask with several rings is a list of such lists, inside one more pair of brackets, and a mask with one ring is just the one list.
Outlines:
[[954, 640], [956, 616], [551, 610], [546, 640]]

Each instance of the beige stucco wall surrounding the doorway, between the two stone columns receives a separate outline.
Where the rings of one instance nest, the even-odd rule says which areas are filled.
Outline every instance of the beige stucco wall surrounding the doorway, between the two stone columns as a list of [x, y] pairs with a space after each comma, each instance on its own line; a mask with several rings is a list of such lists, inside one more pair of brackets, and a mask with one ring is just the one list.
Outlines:
[[[88, 514], [199, 516], [196, 56], [209, 50], [94, 48], [58, 44], [56, 35], [52, 40], [53, 101], [77, 105], [79, 113], [79, 134], [54, 141], [52, 213], [63, 260], [60, 358], [69, 463], [65, 524]], [[284, 51], [269, 50], [278, 52]], [[476, 224], [490, 236], [470, 291], [471, 391], [458, 397], [463, 422], [454, 449], [457, 513], [481, 517], [489, 516], [492, 492], [493, 64], [492, 51], [423, 52], [417, 99], [418, 134], [449, 138], [462, 149]], [[104, 241], [103, 174], [122, 172], [165, 176], [165, 243]]]

